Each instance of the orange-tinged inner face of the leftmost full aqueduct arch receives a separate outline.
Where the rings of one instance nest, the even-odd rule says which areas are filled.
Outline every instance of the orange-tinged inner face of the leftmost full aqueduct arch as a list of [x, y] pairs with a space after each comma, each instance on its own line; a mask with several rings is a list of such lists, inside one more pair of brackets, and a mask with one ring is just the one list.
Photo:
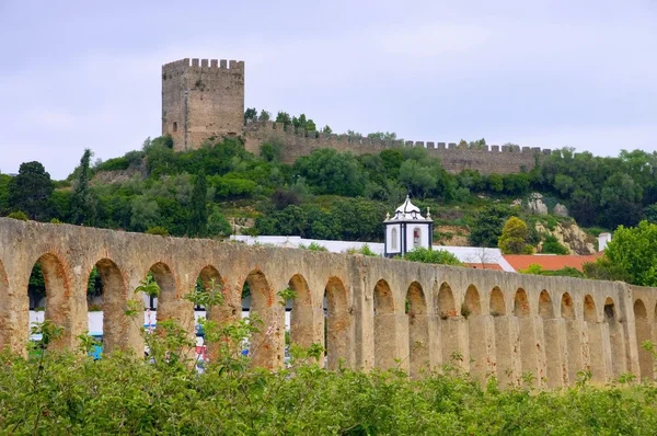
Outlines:
[[[55, 325], [64, 328], [61, 336], [51, 343], [55, 348], [72, 347], [74, 345], [76, 333], [72, 332], [70, 276], [65, 267], [64, 261], [54, 253], [45, 253], [36, 261], [41, 265], [46, 285], [46, 310], [45, 319], [51, 321]], [[84, 320], [87, 322], [87, 320]], [[87, 324], [82, 326], [87, 330]]]

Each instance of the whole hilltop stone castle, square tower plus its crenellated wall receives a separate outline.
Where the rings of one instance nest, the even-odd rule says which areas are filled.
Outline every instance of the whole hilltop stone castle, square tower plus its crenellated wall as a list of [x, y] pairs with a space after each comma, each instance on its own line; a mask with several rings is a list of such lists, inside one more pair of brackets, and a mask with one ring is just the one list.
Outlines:
[[459, 147], [456, 142], [379, 141], [295, 130], [272, 122], [244, 125], [244, 62], [224, 59], [182, 59], [162, 66], [162, 135], [171, 135], [176, 150], [197, 149], [208, 138], [239, 136], [246, 150], [258, 154], [265, 141], [283, 147], [283, 161], [293, 163], [320, 148], [350, 151], [355, 154], [379, 153], [389, 148], [423, 147], [440, 158], [450, 172], [479, 170], [482, 174], [508, 174], [531, 170], [551, 150], [484, 146]]

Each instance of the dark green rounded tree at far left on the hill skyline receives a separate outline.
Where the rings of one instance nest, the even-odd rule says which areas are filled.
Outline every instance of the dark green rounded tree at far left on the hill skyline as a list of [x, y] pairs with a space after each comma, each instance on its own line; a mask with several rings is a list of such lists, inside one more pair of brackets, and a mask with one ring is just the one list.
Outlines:
[[39, 162], [21, 163], [19, 174], [8, 186], [10, 210], [22, 210], [30, 219], [46, 221], [49, 218], [48, 199], [53, 194], [53, 181]]

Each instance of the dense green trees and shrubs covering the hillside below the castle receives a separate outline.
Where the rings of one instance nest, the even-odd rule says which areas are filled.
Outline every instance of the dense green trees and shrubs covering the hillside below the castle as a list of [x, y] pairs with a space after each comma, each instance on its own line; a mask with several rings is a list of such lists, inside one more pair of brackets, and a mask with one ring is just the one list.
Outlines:
[[[533, 246], [545, 238], [535, 230], [537, 221], [539, 229], [573, 222], [532, 215], [526, 200], [517, 200], [531, 192], [543, 194], [548, 211], [565, 204], [573, 219], [596, 233], [657, 220], [657, 156], [638, 150], [600, 158], [566, 148], [528, 172], [482, 175], [468, 170], [450, 174], [418, 148], [359, 157], [322, 149], [287, 165], [279, 162], [280, 147], [265, 144], [254, 156], [239, 139], [224, 139], [174, 152], [171, 138], [160, 137], [95, 165], [88, 156], [87, 167], [81, 163], [59, 182], [51, 182], [38, 162], [27, 162], [15, 177], [0, 175], [0, 214], [178, 237], [226, 237], [240, 229], [380, 241], [383, 217], [410, 194], [420, 208], [430, 208], [435, 240], [449, 241], [453, 234], [440, 229], [451, 226], [446, 228], [485, 246], [497, 245], [510, 216], [529, 223]], [[200, 182], [205, 187], [197, 187], [197, 196], [205, 202], [194, 198]], [[510, 206], [514, 200], [517, 206]], [[200, 227], [194, 222], [198, 219]]]

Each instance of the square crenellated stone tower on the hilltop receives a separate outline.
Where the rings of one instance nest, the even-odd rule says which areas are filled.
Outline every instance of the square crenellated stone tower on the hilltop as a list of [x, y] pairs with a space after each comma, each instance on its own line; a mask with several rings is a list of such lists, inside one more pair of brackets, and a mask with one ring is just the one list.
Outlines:
[[162, 135], [171, 135], [175, 150], [242, 135], [243, 126], [243, 61], [186, 58], [162, 66]]

